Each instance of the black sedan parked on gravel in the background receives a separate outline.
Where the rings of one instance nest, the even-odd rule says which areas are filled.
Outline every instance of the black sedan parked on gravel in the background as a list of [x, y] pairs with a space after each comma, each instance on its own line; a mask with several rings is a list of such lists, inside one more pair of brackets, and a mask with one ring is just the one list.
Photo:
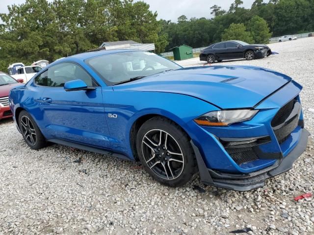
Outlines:
[[240, 59], [246, 60], [260, 59], [269, 56], [271, 50], [266, 45], [250, 45], [242, 41], [226, 41], [210, 45], [201, 51], [200, 60], [209, 64], [222, 60]]

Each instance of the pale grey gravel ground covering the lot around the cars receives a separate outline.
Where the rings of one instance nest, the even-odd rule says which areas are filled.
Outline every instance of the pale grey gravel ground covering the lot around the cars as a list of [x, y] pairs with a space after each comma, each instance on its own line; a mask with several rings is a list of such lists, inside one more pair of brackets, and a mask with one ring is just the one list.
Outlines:
[[[314, 135], [314, 38], [271, 44], [278, 55], [220, 65], [257, 65], [284, 72], [304, 86], [306, 126]], [[197, 59], [183, 66], [203, 65]], [[30, 150], [11, 120], [0, 120], [0, 235], [314, 234], [314, 141], [292, 170], [263, 188], [235, 192], [200, 184], [181, 188], [152, 180], [142, 167], [51, 145]]]

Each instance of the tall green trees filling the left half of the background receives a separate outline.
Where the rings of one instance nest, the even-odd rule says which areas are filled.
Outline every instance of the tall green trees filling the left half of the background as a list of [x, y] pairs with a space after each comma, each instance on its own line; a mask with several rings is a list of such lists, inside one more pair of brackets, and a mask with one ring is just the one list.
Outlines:
[[52, 62], [104, 41], [155, 43], [157, 53], [168, 45], [157, 12], [142, 1], [26, 0], [0, 18], [0, 71], [15, 62]]

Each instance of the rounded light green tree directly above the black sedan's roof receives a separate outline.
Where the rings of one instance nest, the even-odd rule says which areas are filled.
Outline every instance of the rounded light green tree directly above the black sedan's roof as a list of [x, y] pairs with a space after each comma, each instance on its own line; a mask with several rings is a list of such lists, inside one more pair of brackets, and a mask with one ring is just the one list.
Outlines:
[[244, 24], [230, 24], [229, 28], [224, 30], [221, 38], [223, 41], [240, 40], [250, 44], [254, 42], [251, 33], [246, 31]]

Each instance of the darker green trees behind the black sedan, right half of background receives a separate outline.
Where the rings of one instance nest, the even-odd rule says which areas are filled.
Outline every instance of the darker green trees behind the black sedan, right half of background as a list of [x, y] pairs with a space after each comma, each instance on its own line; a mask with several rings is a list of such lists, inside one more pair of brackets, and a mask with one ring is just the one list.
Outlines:
[[270, 37], [314, 31], [314, 0], [255, 0], [250, 9], [235, 0], [229, 10], [213, 5], [211, 19], [184, 15], [178, 23], [161, 20], [170, 48], [186, 44], [206, 47], [221, 40], [267, 43]]

